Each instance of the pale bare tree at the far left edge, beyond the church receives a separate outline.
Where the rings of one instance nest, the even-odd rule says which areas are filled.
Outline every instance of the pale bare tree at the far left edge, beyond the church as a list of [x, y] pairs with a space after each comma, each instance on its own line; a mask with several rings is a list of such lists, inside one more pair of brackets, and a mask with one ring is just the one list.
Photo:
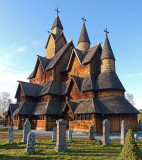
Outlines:
[[0, 92], [0, 114], [3, 114], [10, 104], [10, 94], [7, 92]]

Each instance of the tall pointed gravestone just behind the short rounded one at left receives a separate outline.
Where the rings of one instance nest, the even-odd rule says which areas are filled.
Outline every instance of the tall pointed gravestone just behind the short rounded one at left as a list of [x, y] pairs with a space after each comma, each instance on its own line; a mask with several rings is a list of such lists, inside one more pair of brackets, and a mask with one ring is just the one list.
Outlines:
[[26, 118], [26, 121], [23, 126], [23, 143], [27, 143], [27, 135], [29, 132], [31, 132], [31, 123], [29, 121], [29, 118]]

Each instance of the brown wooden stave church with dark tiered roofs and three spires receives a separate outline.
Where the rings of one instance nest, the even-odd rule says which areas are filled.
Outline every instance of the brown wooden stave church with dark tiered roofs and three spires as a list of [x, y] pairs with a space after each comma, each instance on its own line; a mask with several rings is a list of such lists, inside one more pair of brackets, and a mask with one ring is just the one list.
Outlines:
[[102, 131], [102, 121], [110, 121], [110, 131], [119, 132], [125, 120], [127, 130], [137, 130], [139, 111], [125, 99], [125, 88], [115, 71], [115, 56], [107, 29], [104, 46], [90, 47], [83, 18], [78, 48], [67, 42], [58, 16], [45, 45], [46, 56], [38, 56], [29, 82], [19, 81], [5, 125], [22, 128], [29, 117], [32, 128], [52, 130], [56, 120], [67, 120], [67, 128], [87, 132]]

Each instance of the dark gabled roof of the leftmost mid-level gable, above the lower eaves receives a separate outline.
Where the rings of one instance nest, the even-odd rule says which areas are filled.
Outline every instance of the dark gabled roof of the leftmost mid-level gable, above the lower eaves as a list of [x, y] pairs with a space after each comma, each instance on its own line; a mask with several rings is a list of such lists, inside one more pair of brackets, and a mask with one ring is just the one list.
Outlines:
[[37, 94], [37, 89], [39, 87], [38, 84], [19, 81], [19, 85], [18, 85], [18, 88], [17, 88], [17, 91], [16, 91], [15, 98], [17, 98], [20, 87], [21, 87], [25, 96], [30, 96], [30, 97], [36, 97], [37, 96], [36, 95]]

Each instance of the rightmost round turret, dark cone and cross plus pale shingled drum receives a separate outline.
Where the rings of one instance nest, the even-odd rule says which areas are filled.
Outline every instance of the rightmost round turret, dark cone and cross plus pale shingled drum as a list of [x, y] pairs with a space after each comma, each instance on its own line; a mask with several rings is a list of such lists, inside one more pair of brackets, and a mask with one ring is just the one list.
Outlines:
[[105, 38], [105, 43], [102, 51], [102, 56], [101, 56], [101, 73], [102, 72], [115, 72], [115, 57], [113, 54], [113, 51], [111, 49], [111, 45], [109, 43], [108, 39], [108, 31], [107, 28], [104, 30], [106, 32], [106, 38]]

